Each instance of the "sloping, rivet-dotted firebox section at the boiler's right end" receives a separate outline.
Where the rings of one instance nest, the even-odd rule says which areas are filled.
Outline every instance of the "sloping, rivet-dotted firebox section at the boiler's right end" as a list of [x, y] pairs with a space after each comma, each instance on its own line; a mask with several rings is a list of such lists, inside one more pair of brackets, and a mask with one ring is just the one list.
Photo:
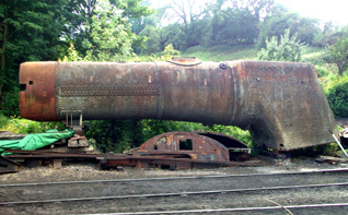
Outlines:
[[254, 141], [289, 151], [333, 142], [334, 116], [308, 63], [244, 61], [239, 65], [243, 95], [242, 116]]

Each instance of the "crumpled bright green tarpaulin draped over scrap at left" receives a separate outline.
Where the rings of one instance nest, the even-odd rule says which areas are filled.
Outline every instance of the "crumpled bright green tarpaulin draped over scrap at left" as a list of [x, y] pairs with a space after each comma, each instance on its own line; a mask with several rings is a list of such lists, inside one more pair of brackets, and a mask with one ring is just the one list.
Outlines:
[[7, 155], [10, 153], [4, 153], [4, 150], [24, 150], [24, 151], [34, 151], [37, 148], [45, 147], [50, 145], [61, 139], [68, 139], [73, 135], [72, 130], [57, 131], [50, 130], [46, 133], [32, 133], [27, 134], [22, 140], [7, 140], [0, 141], [0, 153], [1, 155]]

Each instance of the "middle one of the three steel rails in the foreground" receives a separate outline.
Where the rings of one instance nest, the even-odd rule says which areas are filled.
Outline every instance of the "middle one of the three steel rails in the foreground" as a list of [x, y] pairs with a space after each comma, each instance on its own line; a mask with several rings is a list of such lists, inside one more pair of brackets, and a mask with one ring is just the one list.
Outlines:
[[60, 202], [98, 201], [98, 200], [119, 200], [119, 199], [135, 199], [135, 198], [169, 198], [169, 196], [187, 196], [187, 195], [221, 194], [221, 193], [224, 194], [224, 193], [233, 193], [233, 192], [255, 192], [255, 191], [268, 191], [268, 190], [325, 188], [325, 187], [343, 187], [343, 186], [348, 186], [348, 182], [308, 184], [308, 186], [268, 187], [268, 188], [246, 188], [246, 189], [233, 189], [233, 190], [210, 190], [210, 191], [178, 192], [178, 193], [156, 193], [156, 194], [114, 195], [114, 196], [98, 196], [98, 198], [72, 198], [72, 199], [56, 199], [56, 200], [0, 202], [0, 205], [60, 203]]

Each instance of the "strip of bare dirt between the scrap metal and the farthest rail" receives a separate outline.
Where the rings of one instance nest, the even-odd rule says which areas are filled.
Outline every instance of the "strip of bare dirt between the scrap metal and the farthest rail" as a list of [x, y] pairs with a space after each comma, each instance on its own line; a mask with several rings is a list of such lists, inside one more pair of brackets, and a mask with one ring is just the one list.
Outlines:
[[316, 163], [314, 159], [283, 160], [277, 165], [266, 164], [258, 167], [224, 167], [211, 169], [137, 169], [125, 167], [124, 170], [100, 170], [96, 164], [67, 163], [60, 169], [51, 166], [36, 168], [21, 168], [19, 172], [0, 175], [0, 183], [22, 182], [49, 182], [49, 181], [78, 181], [78, 180], [107, 180], [123, 178], [149, 178], [149, 177], [179, 177], [205, 175], [241, 175], [241, 174], [271, 174], [283, 171], [305, 171], [332, 168], [348, 168], [348, 164]]

